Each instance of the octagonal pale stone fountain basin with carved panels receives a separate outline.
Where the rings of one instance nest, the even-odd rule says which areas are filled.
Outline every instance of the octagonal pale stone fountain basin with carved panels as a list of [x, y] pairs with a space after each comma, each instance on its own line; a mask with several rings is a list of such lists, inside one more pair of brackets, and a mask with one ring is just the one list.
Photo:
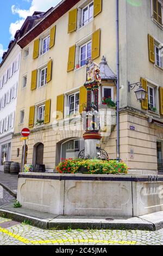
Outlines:
[[20, 173], [17, 200], [55, 215], [142, 216], [163, 210], [163, 176]]

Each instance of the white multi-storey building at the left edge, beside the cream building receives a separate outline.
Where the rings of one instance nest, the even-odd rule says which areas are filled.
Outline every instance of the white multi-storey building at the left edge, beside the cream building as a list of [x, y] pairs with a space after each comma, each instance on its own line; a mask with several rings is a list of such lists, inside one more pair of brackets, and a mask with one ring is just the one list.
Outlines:
[[0, 64], [0, 170], [3, 170], [5, 161], [10, 161], [20, 69], [20, 50], [20, 46], [16, 44], [16, 39], [11, 41]]

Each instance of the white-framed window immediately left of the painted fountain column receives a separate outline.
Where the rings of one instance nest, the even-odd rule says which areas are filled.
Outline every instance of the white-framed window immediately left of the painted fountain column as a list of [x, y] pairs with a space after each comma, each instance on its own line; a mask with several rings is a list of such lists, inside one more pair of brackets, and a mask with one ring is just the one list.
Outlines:
[[68, 95], [68, 111], [69, 115], [79, 112], [79, 93]]

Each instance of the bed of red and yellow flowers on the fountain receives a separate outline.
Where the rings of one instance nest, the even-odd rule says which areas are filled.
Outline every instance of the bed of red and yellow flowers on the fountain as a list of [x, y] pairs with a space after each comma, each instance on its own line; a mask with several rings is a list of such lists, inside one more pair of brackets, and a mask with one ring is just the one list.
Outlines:
[[127, 174], [128, 167], [123, 161], [98, 159], [65, 159], [57, 166], [58, 173], [74, 174]]

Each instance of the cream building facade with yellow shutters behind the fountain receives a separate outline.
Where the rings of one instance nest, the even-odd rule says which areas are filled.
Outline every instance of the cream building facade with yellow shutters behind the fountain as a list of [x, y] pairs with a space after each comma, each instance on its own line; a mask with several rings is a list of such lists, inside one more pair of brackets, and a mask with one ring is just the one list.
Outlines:
[[[119, 2], [120, 158], [130, 172], [157, 173], [163, 154], [162, 2]], [[12, 161], [22, 162], [20, 132], [26, 126], [31, 130], [27, 163], [34, 166], [53, 170], [84, 149], [87, 58], [99, 64], [102, 75], [101, 148], [116, 159], [116, 113], [103, 102], [104, 97], [116, 102], [116, 3], [61, 1], [28, 32], [24, 29], [17, 42], [22, 54]], [[128, 83], [136, 82], [148, 92], [142, 103], [129, 90]]]

